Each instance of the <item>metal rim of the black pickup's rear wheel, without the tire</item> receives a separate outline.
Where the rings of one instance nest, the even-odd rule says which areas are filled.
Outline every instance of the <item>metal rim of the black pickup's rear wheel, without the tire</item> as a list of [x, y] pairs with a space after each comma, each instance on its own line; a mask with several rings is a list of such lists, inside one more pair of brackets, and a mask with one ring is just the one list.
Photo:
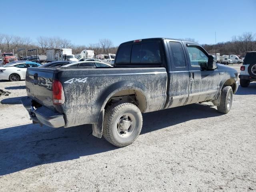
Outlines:
[[116, 132], [121, 138], [129, 137], [135, 130], [136, 118], [131, 113], [124, 113], [116, 120]]

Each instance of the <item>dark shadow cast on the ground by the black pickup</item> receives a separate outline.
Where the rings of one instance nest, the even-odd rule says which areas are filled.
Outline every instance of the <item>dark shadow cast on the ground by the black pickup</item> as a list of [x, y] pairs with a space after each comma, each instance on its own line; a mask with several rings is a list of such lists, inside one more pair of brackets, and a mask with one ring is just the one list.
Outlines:
[[[204, 104], [151, 112], [143, 115], [141, 134], [191, 119], [220, 115], [215, 108]], [[92, 136], [91, 125], [70, 128], [40, 127], [39, 124], [14, 126], [0, 130], [0, 141], [0, 175], [118, 149], [104, 138]]]

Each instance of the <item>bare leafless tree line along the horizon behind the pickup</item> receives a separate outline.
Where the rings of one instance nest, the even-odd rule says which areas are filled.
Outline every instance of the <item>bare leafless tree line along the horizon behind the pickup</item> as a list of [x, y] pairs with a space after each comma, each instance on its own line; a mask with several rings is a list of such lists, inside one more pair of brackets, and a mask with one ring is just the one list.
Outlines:
[[[186, 38], [196, 42], [192, 38]], [[239, 36], [233, 36], [228, 42], [219, 42], [215, 44], [202, 44], [202, 46], [209, 52], [217, 53], [220, 55], [245, 55], [248, 51], [256, 50], [256, 34], [245, 32]], [[47, 49], [52, 48], [72, 48], [73, 54], [79, 54], [84, 49], [94, 50], [95, 55], [98, 54], [115, 54], [118, 46], [114, 46], [113, 42], [109, 39], [100, 39], [98, 43], [86, 45], [74, 45], [70, 40], [62, 39], [59, 37], [44, 37], [39, 36], [36, 42], [33, 42], [29, 37], [13, 36], [8, 34], [0, 34], [0, 50], [2, 52], [17, 53], [19, 48], [38, 49], [38, 53], [45, 55]]]

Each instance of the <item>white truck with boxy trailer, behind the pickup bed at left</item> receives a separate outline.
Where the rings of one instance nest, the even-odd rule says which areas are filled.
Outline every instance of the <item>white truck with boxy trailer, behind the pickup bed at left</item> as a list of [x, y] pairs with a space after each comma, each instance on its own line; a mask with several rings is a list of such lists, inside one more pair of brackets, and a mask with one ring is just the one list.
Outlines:
[[72, 49], [48, 49], [46, 50], [46, 61], [78, 61], [72, 54]]

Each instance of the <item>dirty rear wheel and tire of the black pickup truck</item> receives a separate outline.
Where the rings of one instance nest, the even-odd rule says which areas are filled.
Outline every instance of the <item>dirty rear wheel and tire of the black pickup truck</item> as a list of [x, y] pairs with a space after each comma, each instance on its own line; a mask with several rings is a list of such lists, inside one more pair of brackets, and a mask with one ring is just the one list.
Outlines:
[[103, 136], [114, 146], [128, 146], [138, 138], [142, 122], [142, 114], [136, 105], [116, 103], [107, 108], [104, 115]]

